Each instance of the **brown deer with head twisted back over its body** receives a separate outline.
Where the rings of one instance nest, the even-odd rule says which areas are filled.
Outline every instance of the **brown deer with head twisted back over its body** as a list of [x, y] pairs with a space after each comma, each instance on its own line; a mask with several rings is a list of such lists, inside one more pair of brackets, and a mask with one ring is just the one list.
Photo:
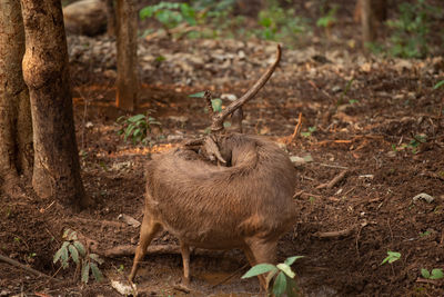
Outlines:
[[[294, 225], [295, 168], [273, 141], [239, 131], [242, 106], [265, 85], [280, 59], [278, 46], [275, 61], [245, 95], [212, 113], [209, 137], [148, 162], [144, 217], [131, 283], [148, 246], [162, 229], [180, 241], [185, 286], [190, 284], [190, 247], [240, 248], [251, 266], [275, 261], [278, 240]], [[209, 92], [205, 98], [211, 105]], [[224, 131], [229, 115], [238, 131]], [[259, 280], [266, 290], [265, 277]]]

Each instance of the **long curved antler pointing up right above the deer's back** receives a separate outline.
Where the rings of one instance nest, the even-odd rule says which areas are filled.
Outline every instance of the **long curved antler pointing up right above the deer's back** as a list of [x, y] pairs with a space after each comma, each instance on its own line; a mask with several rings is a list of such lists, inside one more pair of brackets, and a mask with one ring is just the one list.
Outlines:
[[212, 132], [219, 132], [223, 130], [223, 121], [226, 119], [229, 115], [231, 115], [234, 110], [243, 106], [246, 101], [252, 99], [260, 89], [266, 83], [266, 81], [270, 79], [271, 75], [273, 75], [274, 70], [276, 69], [279, 62], [281, 60], [281, 46], [278, 44], [278, 52], [276, 52], [276, 59], [274, 62], [266, 69], [265, 73], [262, 75], [262, 77], [253, 85], [253, 87], [250, 88], [245, 92], [244, 96], [232, 102], [230, 106], [228, 106], [225, 109], [223, 109], [221, 112], [218, 115], [213, 116], [213, 122], [211, 125], [211, 131]]

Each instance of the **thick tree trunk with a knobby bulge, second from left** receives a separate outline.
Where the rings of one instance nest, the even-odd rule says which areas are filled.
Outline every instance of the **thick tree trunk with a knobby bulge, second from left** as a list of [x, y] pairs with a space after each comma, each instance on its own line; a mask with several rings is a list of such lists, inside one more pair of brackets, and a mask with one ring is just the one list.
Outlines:
[[41, 198], [78, 210], [90, 200], [80, 178], [61, 2], [21, 0], [21, 8], [34, 136], [32, 186]]

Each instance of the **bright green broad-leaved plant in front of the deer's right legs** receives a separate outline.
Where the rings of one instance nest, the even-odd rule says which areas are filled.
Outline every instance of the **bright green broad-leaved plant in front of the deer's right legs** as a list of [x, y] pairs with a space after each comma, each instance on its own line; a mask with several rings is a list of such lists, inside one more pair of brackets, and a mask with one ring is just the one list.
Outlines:
[[272, 265], [272, 264], [258, 264], [250, 268], [242, 278], [250, 278], [263, 274], [266, 275], [266, 286], [270, 287], [270, 281], [274, 278], [274, 284], [272, 287], [272, 293], [274, 296], [297, 296], [299, 288], [297, 284], [294, 280], [295, 274], [291, 269], [291, 265], [304, 256], [293, 256], [285, 259], [284, 263]]

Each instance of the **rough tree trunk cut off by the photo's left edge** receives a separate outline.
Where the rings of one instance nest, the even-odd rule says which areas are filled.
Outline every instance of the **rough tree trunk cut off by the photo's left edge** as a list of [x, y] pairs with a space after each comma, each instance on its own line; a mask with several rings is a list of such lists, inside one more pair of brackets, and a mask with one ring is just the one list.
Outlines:
[[30, 175], [33, 159], [20, 0], [0, 0], [0, 190], [16, 196], [19, 174]]

